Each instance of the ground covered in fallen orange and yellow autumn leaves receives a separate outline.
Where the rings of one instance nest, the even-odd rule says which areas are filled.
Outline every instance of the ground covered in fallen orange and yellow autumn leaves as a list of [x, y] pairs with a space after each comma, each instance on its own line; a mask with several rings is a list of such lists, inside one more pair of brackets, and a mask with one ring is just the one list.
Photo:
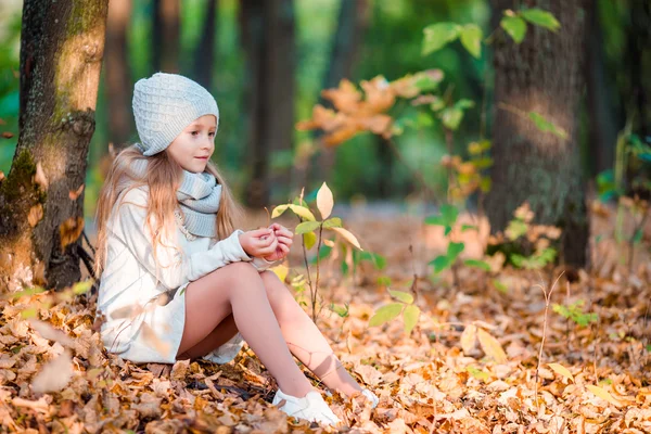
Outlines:
[[[342, 318], [324, 307], [319, 327], [381, 401], [371, 410], [362, 400], [328, 397], [346, 422], [341, 431], [651, 432], [651, 261], [638, 252], [628, 275], [620, 257], [627, 250], [609, 241], [611, 213], [596, 215], [593, 233], [603, 237], [595, 244], [592, 271], [574, 273], [572, 283], [561, 278], [550, 303], [571, 306], [583, 299], [582, 315], [596, 314], [597, 321], [582, 327], [550, 306], [536, 382], [546, 307], [536, 285], [549, 291], [558, 270], [514, 271], [498, 264], [492, 272], [460, 268], [455, 288], [449, 272], [430, 278], [426, 264], [445, 241], [439, 230], [421, 225], [422, 216], [352, 213], [345, 225], [365, 248], [384, 255], [387, 266], [376, 270], [362, 264], [354, 276], [342, 277], [341, 257], [322, 264], [326, 304], [349, 304], [349, 309]], [[485, 237], [464, 237], [465, 253], [476, 257], [482, 251], [477, 240]], [[290, 265], [299, 264], [296, 246]], [[292, 268], [288, 281], [301, 272]], [[414, 273], [419, 279], [412, 286]], [[410, 335], [399, 318], [368, 326], [373, 312], [392, 302], [386, 277], [392, 290], [416, 290], [422, 315]], [[289, 421], [270, 406], [273, 380], [251, 350], [225, 366], [203, 360], [137, 366], [102, 350], [88, 294], [26, 295], [1, 301], [0, 309], [3, 431], [318, 430]], [[48, 390], [60, 392], [39, 392]]]

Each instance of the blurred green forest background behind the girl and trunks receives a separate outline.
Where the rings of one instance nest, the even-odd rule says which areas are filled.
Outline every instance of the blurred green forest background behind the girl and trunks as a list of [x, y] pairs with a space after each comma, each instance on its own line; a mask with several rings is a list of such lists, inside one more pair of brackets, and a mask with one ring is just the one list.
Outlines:
[[[376, 136], [355, 137], [332, 152], [311, 153], [315, 135], [298, 131], [320, 91], [340, 79], [439, 68], [456, 98], [475, 102], [455, 137], [456, 153], [490, 131], [495, 71], [490, 47], [480, 59], [460, 44], [421, 55], [423, 28], [437, 22], [475, 23], [490, 35], [486, 0], [112, 0], [97, 127], [89, 152], [85, 213], [94, 213], [101, 159], [108, 143], [137, 141], [133, 82], [156, 71], [178, 72], [216, 97], [220, 128], [215, 161], [239, 196], [252, 205], [279, 203], [328, 181], [341, 202], [355, 197], [404, 200], [417, 181]], [[590, 2], [592, 3], [592, 2]], [[165, 9], [171, 4], [171, 9]], [[651, 17], [642, 0], [599, 0], [586, 9], [587, 62], [580, 104], [584, 175], [612, 168], [617, 133], [627, 120], [651, 133]], [[22, 1], [0, 4], [0, 170], [9, 173], [18, 138], [18, 64]], [[497, 20], [499, 13], [496, 14]], [[257, 110], [256, 110], [257, 107]], [[482, 112], [486, 125], [482, 126]], [[489, 136], [489, 135], [488, 135]], [[439, 161], [446, 151], [439, 123], [406, 131], [399, 145], [410, 167], [445, 192]], [[257, 183], [255, 181], [258, 181]], [[270, 191], [260, 191], [260, 182]]]

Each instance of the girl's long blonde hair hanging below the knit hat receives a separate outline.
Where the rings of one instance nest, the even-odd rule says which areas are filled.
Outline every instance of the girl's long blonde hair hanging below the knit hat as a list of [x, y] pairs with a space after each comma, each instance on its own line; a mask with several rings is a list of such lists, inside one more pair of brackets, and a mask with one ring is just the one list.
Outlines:
[[[146, 175], [140, 178], [129, 168], [137, 159], [144, 158], [148, 159]], [[233, 232], [241, 221], [242, 208], [234, 201], [224, 177], [213, 162], [208, 161], [205, 171], [213, 175], [217, 182], [221, 184], [221, 199], [216, 225], [217, 235], [220, 240], [224, 240]], [[168, 237], [175, 233], [174, 212], [179, 207], [176, 192], [179, 189], [182, 175], [181, 166], [168, 156], [167, 151], [152, 156], [143, 156], [136, 145], [131, 145], [117, 154], [106, 174], [106, 180], [102, 186], [98, 201], [95, 276], [101, 276], [106, 261], [106, 224], [111, 218], [118, 196], [125, 191], [143, 186], [149, 187], [145, 221], [150, 233], [153, 234], [152, 252], [154, 259], [156, 258], [157, 247], [163, 244], [163, 240], [174, 240]], [[120, 202], [119, 205], [122, 204]]]

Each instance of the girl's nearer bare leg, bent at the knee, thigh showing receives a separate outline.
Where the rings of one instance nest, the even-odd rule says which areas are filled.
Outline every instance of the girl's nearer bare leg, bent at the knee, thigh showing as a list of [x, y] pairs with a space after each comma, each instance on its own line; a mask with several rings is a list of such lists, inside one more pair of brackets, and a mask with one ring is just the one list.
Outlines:
[[204, 341], [231, 314], [237, 329], [284, 393], [303, 397], [314, 390], [290, 354], [260, 275], [248, 263], [227, 265], [188, 285], [179, 355]]

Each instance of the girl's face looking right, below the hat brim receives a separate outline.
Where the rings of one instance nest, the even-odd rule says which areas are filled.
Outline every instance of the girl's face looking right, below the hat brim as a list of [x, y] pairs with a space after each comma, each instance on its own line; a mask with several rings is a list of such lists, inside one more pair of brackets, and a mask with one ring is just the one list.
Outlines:
[[215, 151], [216, 123], [213, 115], [196, 118], [167, 146], [167, 154], [188, 171], [204, 171]]

